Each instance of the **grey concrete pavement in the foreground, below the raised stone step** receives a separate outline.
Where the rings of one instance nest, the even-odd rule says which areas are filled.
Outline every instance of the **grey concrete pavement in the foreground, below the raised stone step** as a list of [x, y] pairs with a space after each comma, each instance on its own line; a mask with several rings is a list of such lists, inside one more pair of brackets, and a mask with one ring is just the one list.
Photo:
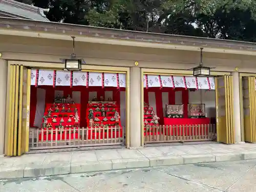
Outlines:
[[0, 180], [1, 192], [254, 192], [256, 160]]

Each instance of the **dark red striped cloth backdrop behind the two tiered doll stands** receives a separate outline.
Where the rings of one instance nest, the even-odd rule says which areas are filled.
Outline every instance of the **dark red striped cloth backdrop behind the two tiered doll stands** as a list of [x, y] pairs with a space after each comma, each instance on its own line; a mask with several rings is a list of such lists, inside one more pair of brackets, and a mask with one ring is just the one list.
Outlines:
[[[113, 91], [113, 101], [117, 102], [118, 109], [120, 110], [120, 91], [125, 91], [125, 88], [113, 88], [113, 87], [89, 87], [86, 88], [84, 86], [74, 86], [70, 88], [68, 86], [58, 86], [53, 88], [52, 86], [39, 86], [38, 88], [46, 90], [46, 103], [53, 103], [55, 98], [55, 90], [63, 91], [63, 95], [67, 97], [70, 95], [72, 97], [73, 91], [80, 91], [81, 92], [81, 117], [80, 117], [80, 126], [86, 126], [86, 111], [87, 111], [87, 103], [89, 101], [89, 92], [97, 92], [97, 99], [100, 100], [100, 97], [105, 97], [105, 91]], [[34, 126], [34, 119], [35, 119], [35, 112], [36, 112], [36, 91], [37, 88], [35, 86], [31, 86], [31, 97], [30, 97], [30, 126]], [[108, 98], [104, 98], [108, 99]], [[119, 111], [120, 114], [120, 111]]]

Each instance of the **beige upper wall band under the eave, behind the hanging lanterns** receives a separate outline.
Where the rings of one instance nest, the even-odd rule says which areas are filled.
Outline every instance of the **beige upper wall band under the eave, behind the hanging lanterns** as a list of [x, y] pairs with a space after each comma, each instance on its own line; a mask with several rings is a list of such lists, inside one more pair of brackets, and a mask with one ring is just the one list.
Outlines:
[[[69, 57], [72, 41], [41, 39], [0, 35], [0, 50], [3, 58], [10, 60], [30, 60], [60, 62], [59, 58]], [[141, 48], [76, 42], [75, 53], [84, 58], [88, 65], [133, 67], [139, 61], [141, 68], [190, 69], [198, 65], [200, 52], [171, 49]], [[256, 73], [256, 56], [225, 53], [204, 53], [204, 65], [215, 71]]]

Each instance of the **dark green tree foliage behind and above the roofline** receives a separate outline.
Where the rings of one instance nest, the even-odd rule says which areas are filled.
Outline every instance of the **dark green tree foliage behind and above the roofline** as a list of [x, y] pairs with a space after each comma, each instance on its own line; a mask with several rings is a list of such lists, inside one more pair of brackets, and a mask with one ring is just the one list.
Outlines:
[[256, 42], [255, 0], [18, 0], [52, 22]]

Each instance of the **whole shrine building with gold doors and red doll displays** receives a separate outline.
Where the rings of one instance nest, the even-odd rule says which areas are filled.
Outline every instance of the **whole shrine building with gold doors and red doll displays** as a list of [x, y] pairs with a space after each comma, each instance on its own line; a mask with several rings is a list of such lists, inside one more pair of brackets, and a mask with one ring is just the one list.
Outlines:
[[255, 43], [53, 23], [47, 11], [0, 2], [0, 155], [256, 142]]

